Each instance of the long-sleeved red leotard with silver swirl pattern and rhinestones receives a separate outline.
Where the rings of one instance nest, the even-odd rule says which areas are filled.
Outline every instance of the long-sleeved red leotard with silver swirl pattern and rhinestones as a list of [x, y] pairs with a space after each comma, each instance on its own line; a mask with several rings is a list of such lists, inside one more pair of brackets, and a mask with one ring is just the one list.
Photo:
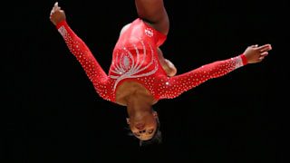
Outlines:
[[107, 75], [89, 48], [65, 21], [57, 24], [57, 29], [63, 35], [70, 51], [82, 64], [98, 94], [112, 102], [116, 102], [116, 90], [121, 82], [139, 82], [156, 100], [171, 99], [202, 82], [218, 78], [247, 64], [246, 56], [241, 54], [203, 65], [191, 72], [168, 77], [157, 54], [157, 47], [164, 43], [166, 35], [136, 19], [116, 43]]

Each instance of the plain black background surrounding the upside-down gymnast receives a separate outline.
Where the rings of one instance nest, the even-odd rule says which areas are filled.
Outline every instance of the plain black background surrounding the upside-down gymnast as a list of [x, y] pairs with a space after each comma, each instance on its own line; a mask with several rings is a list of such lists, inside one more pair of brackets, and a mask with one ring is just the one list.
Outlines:
[[[49, 20], [55, 1], [2, 4], [1, 162], [285, 162], [289, 2], [165, 1], [164, 56], [178, 73], [271, 43], [261, 63], [159, 101], [163, 143], [127, 136], [126, 108], [103, 101]], [[134, 1], [58, 1], [105, 72]], [[4, 43], [4, 44], [3, 44]]]

